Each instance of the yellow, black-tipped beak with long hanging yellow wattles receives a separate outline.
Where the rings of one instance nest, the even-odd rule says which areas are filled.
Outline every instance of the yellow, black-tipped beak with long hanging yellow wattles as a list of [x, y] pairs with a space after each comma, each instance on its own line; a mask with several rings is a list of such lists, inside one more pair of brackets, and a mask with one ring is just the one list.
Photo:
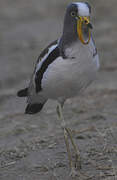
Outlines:
[[[89, 32], [88, 36], [89, 37], [88, 37], [87, 41], [85, 41], [83, 39], [82, 25], [87, 25], [87, 27], [88, 27], [88, 32]], [[90, 29], [93, 29], [92, 24], [90, 23], [90, 17], [78, 16], [78, 19], [77, 19], [77, 33], [78, 33], [78, 37], [79, 37], [80, 41], [85, 45], [89, 44], [90, 39], [91, 39]]]

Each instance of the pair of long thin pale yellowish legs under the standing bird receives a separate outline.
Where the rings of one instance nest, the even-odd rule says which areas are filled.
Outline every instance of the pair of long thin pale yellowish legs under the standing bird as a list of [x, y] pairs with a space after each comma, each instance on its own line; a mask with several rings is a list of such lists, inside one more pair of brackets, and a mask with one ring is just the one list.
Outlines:
[[[63, 113], [62, 113], [62, 106], [61, 104], [58, 104], [57, 106], [57, 114], [59, 119], [61, 119], [61, 127], [64, 130], [64, 139], [65, 139], [65, 144], [66, 144], [66, 148], [67, 148], [67, 153], [68, 153], [68, 158], [69, 158], [69, 164], [70, 164], [70, 168], [71, 168], [71, 175], [75, 176], [77, 173], [75, 171], [75, 168], [81, 168], [81, 161], [80, 161], [80, 153], [79, 150], [77, 149], [73, 138], [72, 138], [72, 132], [69, 128], [66, 127], [66, 123], [63, 117]], [[68, 141], [68, 136], [70, 138], [71, 144], [74, 148], [75, 151], [75, 167], [73, 166], [73, 161], [72, 161], [72, 155], [71, 155], [71, 151], [70, 151], [70, 145], [69, 145], [69, 141]]]

